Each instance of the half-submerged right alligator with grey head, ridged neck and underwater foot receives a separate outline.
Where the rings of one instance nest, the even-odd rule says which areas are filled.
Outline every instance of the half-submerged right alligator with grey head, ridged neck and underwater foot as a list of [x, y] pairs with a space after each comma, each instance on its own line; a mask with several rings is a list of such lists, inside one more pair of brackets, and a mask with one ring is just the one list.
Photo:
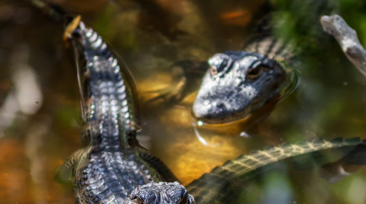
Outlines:
[[206, 124], [238, 121], [268, 102], [278, 102], [296, 88], [300, 75], [284, 61], [291, 53], [289, 45], [274, 38], [261, 41], [253, 39], [241, 51], [214, 54], [207, 62], [174, 63], [176, 84], [159, 90], [161, 94], [150, 102], [178, 102], [193, 92], [191, 85], [197, 80], [202, 82], [192, 113]]

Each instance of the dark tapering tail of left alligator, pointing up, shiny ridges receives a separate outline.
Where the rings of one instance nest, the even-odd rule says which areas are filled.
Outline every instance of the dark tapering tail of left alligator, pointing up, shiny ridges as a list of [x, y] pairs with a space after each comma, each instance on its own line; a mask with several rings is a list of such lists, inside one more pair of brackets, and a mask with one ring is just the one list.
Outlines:
[[83, 22], [72, 34], [82, 96], [83, 143], [93, 151], [122, 151], [135, 141], [130, 87], [102, 38]]

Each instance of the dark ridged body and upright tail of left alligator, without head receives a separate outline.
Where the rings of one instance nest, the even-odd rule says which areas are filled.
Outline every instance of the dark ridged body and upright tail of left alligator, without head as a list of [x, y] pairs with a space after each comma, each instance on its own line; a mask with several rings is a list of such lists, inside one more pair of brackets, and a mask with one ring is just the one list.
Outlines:
[[69, 39], [82, 92], [86, 147], [66, 160], [61, 171], [73, 168], [76, 203], [122, 204], [138, 185], [176, 180], [136, 141], [131, 90], [118, 60], [83, 22], [75, 18], [69, 25], [75, 27]]

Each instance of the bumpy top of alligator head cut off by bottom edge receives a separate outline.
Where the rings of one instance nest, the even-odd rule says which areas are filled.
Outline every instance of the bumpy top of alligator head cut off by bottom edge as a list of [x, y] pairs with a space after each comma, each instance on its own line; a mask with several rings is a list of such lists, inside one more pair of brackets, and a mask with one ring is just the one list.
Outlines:
[[123, 204], [196, 204], [196, 202], [179, 182], [159, 182], [137, 186]]

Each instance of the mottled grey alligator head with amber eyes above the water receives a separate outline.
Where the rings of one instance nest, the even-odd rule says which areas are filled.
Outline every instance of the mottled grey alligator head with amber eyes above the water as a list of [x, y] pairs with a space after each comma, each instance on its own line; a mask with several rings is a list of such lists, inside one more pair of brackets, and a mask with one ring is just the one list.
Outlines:
[[275, 60], [245, 51], [213, 55], [203, 77], [193, 113], [206, 123], [244, 118], [279, 94], [286, 73]]

